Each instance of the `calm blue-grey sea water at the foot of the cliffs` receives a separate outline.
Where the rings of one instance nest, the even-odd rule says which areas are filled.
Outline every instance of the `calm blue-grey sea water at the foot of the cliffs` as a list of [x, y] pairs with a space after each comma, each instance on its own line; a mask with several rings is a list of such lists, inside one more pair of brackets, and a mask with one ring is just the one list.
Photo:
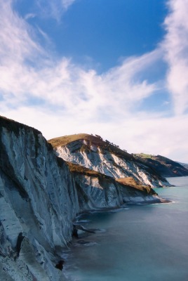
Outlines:
[[187, 281], [188, 177], [159, 188], [170, 204], [130, 205], [81, 216], [86, 228], [67, 253], [65, 270], [75, 281]]

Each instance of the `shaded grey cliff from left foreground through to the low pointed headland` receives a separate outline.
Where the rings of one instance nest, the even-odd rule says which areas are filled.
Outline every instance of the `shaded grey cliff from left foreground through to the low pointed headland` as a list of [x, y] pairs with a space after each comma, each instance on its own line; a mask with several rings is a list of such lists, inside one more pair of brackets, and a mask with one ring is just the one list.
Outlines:
[[161, 202], [149, 187], [67, 165], [39, 131], [3, 117], [0, 148], [1, 280], [65, 280], [62, 251], [72, 240], [76, 214]]

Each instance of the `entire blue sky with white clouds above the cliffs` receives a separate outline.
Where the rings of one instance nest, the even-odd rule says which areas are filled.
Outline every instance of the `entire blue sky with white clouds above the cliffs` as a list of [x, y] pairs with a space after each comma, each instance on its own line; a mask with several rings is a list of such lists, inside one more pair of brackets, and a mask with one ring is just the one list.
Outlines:
[[188, 0], [0, 0], [0, 115], [188, 163]]

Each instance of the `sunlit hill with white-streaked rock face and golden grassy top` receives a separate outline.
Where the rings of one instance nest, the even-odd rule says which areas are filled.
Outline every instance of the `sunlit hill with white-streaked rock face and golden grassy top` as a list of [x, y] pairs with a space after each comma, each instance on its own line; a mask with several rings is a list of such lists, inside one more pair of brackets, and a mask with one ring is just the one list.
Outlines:
[[170, 185], [166, 178], [160, 176], [151, 166], [135, 159], [133, 155], [109, 141], [103, 141], [100, 136], [79, 134], [53, 138], [48, 142], [62, 159], [107, 176], [114, 178], [131, 176], [142, 185], [150, 185], [152, 188]]

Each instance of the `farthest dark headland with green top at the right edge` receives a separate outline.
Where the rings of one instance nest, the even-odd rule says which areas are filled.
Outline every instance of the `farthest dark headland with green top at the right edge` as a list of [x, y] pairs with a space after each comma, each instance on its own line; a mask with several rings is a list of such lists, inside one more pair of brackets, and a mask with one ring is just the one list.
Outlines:
[[134, 155], [142, 163], [154, 167], [154, 169], [165, 177], [170, 176], [188, 176], [188, 169], [182, 164], [161, 155], [146, 155], [144, 153]]

